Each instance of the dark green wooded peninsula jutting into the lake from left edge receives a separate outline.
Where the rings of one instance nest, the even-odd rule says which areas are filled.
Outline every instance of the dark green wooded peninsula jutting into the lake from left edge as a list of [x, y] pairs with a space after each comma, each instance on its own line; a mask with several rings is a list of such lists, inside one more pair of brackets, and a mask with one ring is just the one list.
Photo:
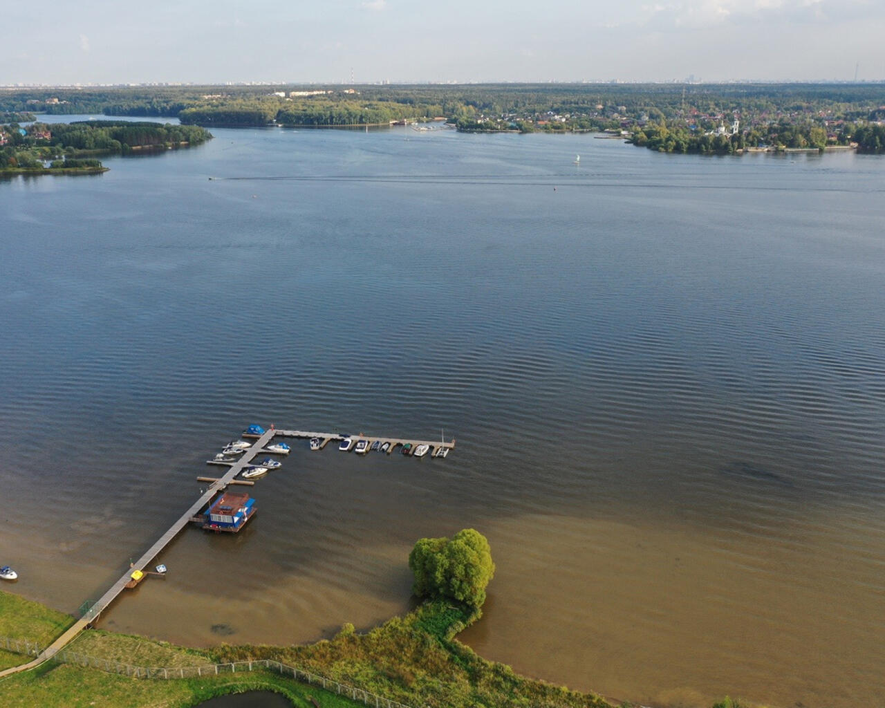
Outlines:
[[[95, 156], [134, 150], [167, 150], [212, 138], [203, 127], [149, 122], [89, 120], [75, 123], [17, 123], [0, 126], [0, 172], [104, 170]], [[50, 164], [47, 164], [50, 163]]]

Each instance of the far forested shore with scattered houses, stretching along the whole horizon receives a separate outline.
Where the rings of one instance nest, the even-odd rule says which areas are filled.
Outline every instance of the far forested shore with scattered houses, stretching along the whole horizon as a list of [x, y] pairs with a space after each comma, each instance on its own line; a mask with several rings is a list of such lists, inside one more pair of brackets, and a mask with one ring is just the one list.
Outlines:
[[885, 84], [486, 84], [14, 89], [0, 112], [104, 112], [202, 127], [444, 119], [467, 133], [605, 131], [650, 150], [885, 151]]

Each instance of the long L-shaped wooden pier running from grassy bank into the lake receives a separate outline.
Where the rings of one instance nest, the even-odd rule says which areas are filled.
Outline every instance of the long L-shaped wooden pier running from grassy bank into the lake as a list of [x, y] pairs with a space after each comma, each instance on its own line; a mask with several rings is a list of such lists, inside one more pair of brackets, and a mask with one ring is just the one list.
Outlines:
[[[298, 437], [298, 438], [319, 438], [322, 443], [320, 447], [325, 447], [326, 444], [331, 440], [343, 440], [345, 437], [350, 437], [353, 441], [359, 440], [369, 440], [375, 441], [378, 440], [381, 443], [389, 443], [388, 454], [390, 454], [393, 449], [397, 445], [404, 445], [407, 443], [412, 444], [412, 448], [417, 447], [418, 445], [427, 445], [432, 449], [437, 449], [440, 447], [445, 448], [453, 448], [455, 447], [454, 438], [450, 442], [437, 441], [437, 440], [408, 440], [405, 438], [391, 438], [391, 437], [382, 437], [382, 436], [373, 436], [373, 435], [363, 435], [360, 433], [359, 435], [341, 435], [340, 433], [313, 433], [304, 430], [278, 430], [271, 428], [267, 430], [264, 435], [256, 436], [250, 435], [250, 437], [257, 437], [255, 443], [252, 443], [252, 446], [242, 453], [239, 459], [229, 462], [229, 463], [216, 463], [214, 460], [207, 460], [212, 464], [221, 464], [227, 465], [228, 469], [225, 471], [224, 475], [219, 477], [218, 479], [212, 478], [213, 481], [209, 484], [209, 487], [204, 491], [202, 495], [190, 505], [188, 511], [181, 514], [179, 519], [176, 519], [175, 523], [165, 534], [161, 535], [156, 543], [154, 543], [150, 548], [142, 554], [141, 558], [135, 561], [135, 563], [130, 566], [126, 573], [120, 576], [119, 580], [114, 582], [110, 589], [104, 593], [103, 596], [99, 597], [95, 604], [89, 608], [89, 611], [86, 612], [79, 620], [76, 620], [71, 627], [69, 627], [65, 633], [58, 637], [58, 639], [51, 643], [46, 649], [40, 652], [40, 655], [35, 658], [33, 661], [27, 662], [27, 664], [23, 664], [21, 666], [12, 666], [12, 668], [5, 669], [4, 671], [0, 671], [0, 678], [7, 676], [11, 673], [17, 673], [19, 671], [27, 671], [28, 669], [35, 668], [35, 666], [40, 666], [44, 661], [54, 657], [58, 651], [62, 650], [66, 644], [73, 642], [73, 639], [79, 635], [86, 627], [89, 627], [93, 622], [95, 622], [98, 617], [101, 615], [104, 610], [108, 608], [112, 602], [117, 599], [117, 596], [127, 587], [127, 583], [132, 580], [132, 573], [136, 570], [144, 572], [145, 568], [150, 564], [150, 562], [157, 558], [159, 553], [165, 549], [165, 547], [175, 538], [175, 536], [181, 533], [181, 530], [188, 526], [188, 524], [193, 521], [197, 514], [203, 509], [204, 506], [208, 505], [212, 501], [212, 497], [215, 496], [220, 491], [223, 491], [227, 488], [231, 482], [234, 481], [234, 478], [237, 474], [242, 472], [243, 467], [246, 467], [250, 464], [252, 458], [256, 455], [267, 453], [268, 450], [265, 450], [265, 446], [270, 443], [274, 436], [280, 435], [281, 437]], [[208, 478], [207, 478], [208, 481]]]

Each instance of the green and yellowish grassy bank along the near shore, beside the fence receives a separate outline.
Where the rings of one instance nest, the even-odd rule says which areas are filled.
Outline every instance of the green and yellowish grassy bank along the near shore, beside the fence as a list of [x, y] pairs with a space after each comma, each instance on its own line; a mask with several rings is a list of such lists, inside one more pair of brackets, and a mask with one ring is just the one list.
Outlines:
[[[222, 645], [196, 650], [140, 636], [88, 630], [71, 648], [132, 666], [166, 668], [274, 659], [414, 708], [611, 708], [601, 696], [528, 679], [459, 643], [455, 635], [480, 614], [467, 605], [437, 599], [365, 634], [346, 624], [332, 640], [304, 646]], [[48, 643], [71, 622], [69, 615], [0, 591], [0, 635]], [[0, 667], [25, 661], [20, 654], [0, 651]], [[0, 696], [9, 708], [185, 708], [247, 690], [273, 690], [301, 708], [313, 708], [312, 699], [322, 708], [363, 705], [263, 670], [140, 680], [50, 663], [0, 680]], [[716, 708], [742, 708], [742, 704], [726, 699]]]

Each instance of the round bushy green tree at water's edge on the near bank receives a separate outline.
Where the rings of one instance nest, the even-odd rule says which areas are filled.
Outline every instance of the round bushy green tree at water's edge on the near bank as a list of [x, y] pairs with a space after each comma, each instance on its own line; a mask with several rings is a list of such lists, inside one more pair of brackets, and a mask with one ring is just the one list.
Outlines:
[[479, 608], [495, 575], [489, 541], [473, 528], [451, 537], [422, 538], [409, 554], [419, 597], [448, 597]]

